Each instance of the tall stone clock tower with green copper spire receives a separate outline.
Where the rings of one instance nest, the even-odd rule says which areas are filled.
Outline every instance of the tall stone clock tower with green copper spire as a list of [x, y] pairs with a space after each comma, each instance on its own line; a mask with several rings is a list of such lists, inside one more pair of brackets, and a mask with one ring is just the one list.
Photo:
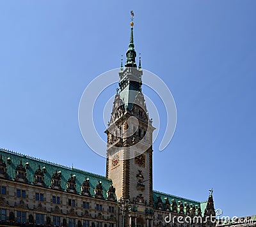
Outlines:
[[119, 71], [108, 136], [106, 177], [113, 181], [116, 197], [129, 199], [141, 206], [153, 205], [152, 198], [152, 133], [154, 127], [148, 117], [141, 92], [143, 70], [141, 57], [136, 64], [133, 26], [126, 62]]

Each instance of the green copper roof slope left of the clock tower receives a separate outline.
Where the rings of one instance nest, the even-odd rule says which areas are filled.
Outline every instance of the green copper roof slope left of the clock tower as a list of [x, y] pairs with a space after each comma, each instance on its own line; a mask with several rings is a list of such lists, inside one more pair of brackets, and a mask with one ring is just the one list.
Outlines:
[[[90, 180], [90, 194], [94, 195], [93, 189], [99, 184], [98, 180], [102, 182], [103, 187], [103, 196], [106, 199], [106, 191], [111, 186], [112, 181], [110, 179], [106, 179], [106, 177], [97, 175], [90, 172], [85, 172], [83, 170], [78, 170], [76, 168], [70, 168], [67, 166], [58, 165], [56, 163], [51, 163], [49, 161], [44, 161], [42, 159], [38, 159], [35, 157], [26, 156], [24, 154], [19, 154], [17, 152], [13, 152], [6, 149], [0, 149], [0, 154], [3, 156], [3, 161], [6, 163], [8, 179], [13, 180], [15, 178], [15, 170], [17, 165], [20, 164], [20, 160], [22, 161], [22, 165], [29, 163], [29, 168], [26, 169], [26, 177], [28, 179], [28, 184], [33, 184], [35, 171], [38, 169], [38, 165], [40, 168], [45, 166], [46, 172], [44, 173], [44, 182], [46, 187], [51, 186], [51, 178], [52, 173], [56, 170], [61, 171], [61, 188], [63, 191], [67, 188], [66, 184], [68, 179], [70, 178], [70, 174], [76, 175], [76, 191], [77, 193], [81, 192], [80, 186], [83, 184], [86, 178]], [[12, 163], [7, 164], [7, 158], [10, 157]], [[26, 167], [26, 166], [25, 166]]]

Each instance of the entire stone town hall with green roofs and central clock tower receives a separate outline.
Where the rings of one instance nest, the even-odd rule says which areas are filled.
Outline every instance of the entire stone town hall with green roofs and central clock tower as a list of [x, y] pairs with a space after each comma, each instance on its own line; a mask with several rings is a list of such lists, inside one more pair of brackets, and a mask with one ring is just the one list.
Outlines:
[[[134, 24], [107, 135], [106, 176], [0, 149], [0, 226], [215, 226], [212, 191], [194, 201], [152, 188], [152, 134]], [[118, 75], [116, 75], [118, 77]], [[86, 116], [84, 116], [86, 117]], [[190, 223], [166, 217], [202, 217]], [[206, 221], [205, 221], [206, 220]]]

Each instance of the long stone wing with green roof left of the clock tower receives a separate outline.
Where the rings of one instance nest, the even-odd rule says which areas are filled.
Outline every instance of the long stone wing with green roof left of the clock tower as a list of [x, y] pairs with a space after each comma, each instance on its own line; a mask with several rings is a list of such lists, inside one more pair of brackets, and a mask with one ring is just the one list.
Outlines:
[[[6, 165], [6, 174], [0, 175], [2, 224], [17, 226], [33, 224], [42, 226], [117, 226], [118, 206], [115, 191], [113, 191], [113, 186], [111, 187], [111, 180], [74, 168], [39, 161], [32, 157], [26, 156], [24, 158], [21, 154], [8, 150], [0, 150], [0, 152], [2, 160], [10, 159], [11, 161], [10, 164]], [[18, 172], [17, 168], [12, 171], [12, 167], [19, 160], [23, 163], [26, 161], [27, 164], [27, 166], [21, 164], [24, 167], [24, 175], [28, 177], [26, 182], [17, 177], [12, 179], [12, 176], [17, 175]], [[38, 185], [30, 181], [35, 177], [30, 174], [35, 163], [46, 166], [45, 173], [43, 173], [45, 175], [44, 184]], [[51, 188], [55, 168], [61, 174], [61, 181], [65, 180], [65, 182], [60, 182], [61, 187], [58, 189], [56, 187]], [[72, 176], [68, 177], [69, 173]], [[85, 180], [81, 186], [78, 185], [83, 179]], [[90, 182], [88, 193], [82, 191], [86, 187], [86, 181]], [[71, 186], [72, 183], [74, 187]], [[101, 188], [102, 191], [100, 192]], [[108, 190], [106, 190], [107, 188]]]

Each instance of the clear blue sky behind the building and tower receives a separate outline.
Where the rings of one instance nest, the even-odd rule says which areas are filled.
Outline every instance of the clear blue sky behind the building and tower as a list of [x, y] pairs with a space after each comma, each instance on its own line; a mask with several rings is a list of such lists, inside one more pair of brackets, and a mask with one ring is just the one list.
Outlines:
[[253, 0], [0, 1], [0, 147], [105, 175], [77, 112], [93, 78], [120, 67], [131, 10], [142, 66], [177, 105], [170, 145], [157, 150], [164, 116], [154, 145], [154, 189], [203, 201], [213, 187], [223, 215], [256, 214]]

